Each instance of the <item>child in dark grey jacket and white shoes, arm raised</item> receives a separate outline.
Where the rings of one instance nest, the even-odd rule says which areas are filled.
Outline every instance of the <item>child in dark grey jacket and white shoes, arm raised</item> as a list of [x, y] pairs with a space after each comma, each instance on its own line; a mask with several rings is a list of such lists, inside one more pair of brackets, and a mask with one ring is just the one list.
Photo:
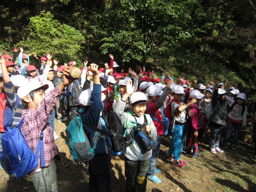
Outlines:
[[223, 127], [226, 123], [226, 115], [228, 114], [228, 107], [226, 105], [226, 91], [222, 88], [218, 88], [216, 82], [213, 91], [213, 98], [211, 99], [211, 105], [213, 114], [210, 118], [210, 151], [213, 154], [223, 153], [224, 151], [219, 148], [220, 136], [223, 132]]

